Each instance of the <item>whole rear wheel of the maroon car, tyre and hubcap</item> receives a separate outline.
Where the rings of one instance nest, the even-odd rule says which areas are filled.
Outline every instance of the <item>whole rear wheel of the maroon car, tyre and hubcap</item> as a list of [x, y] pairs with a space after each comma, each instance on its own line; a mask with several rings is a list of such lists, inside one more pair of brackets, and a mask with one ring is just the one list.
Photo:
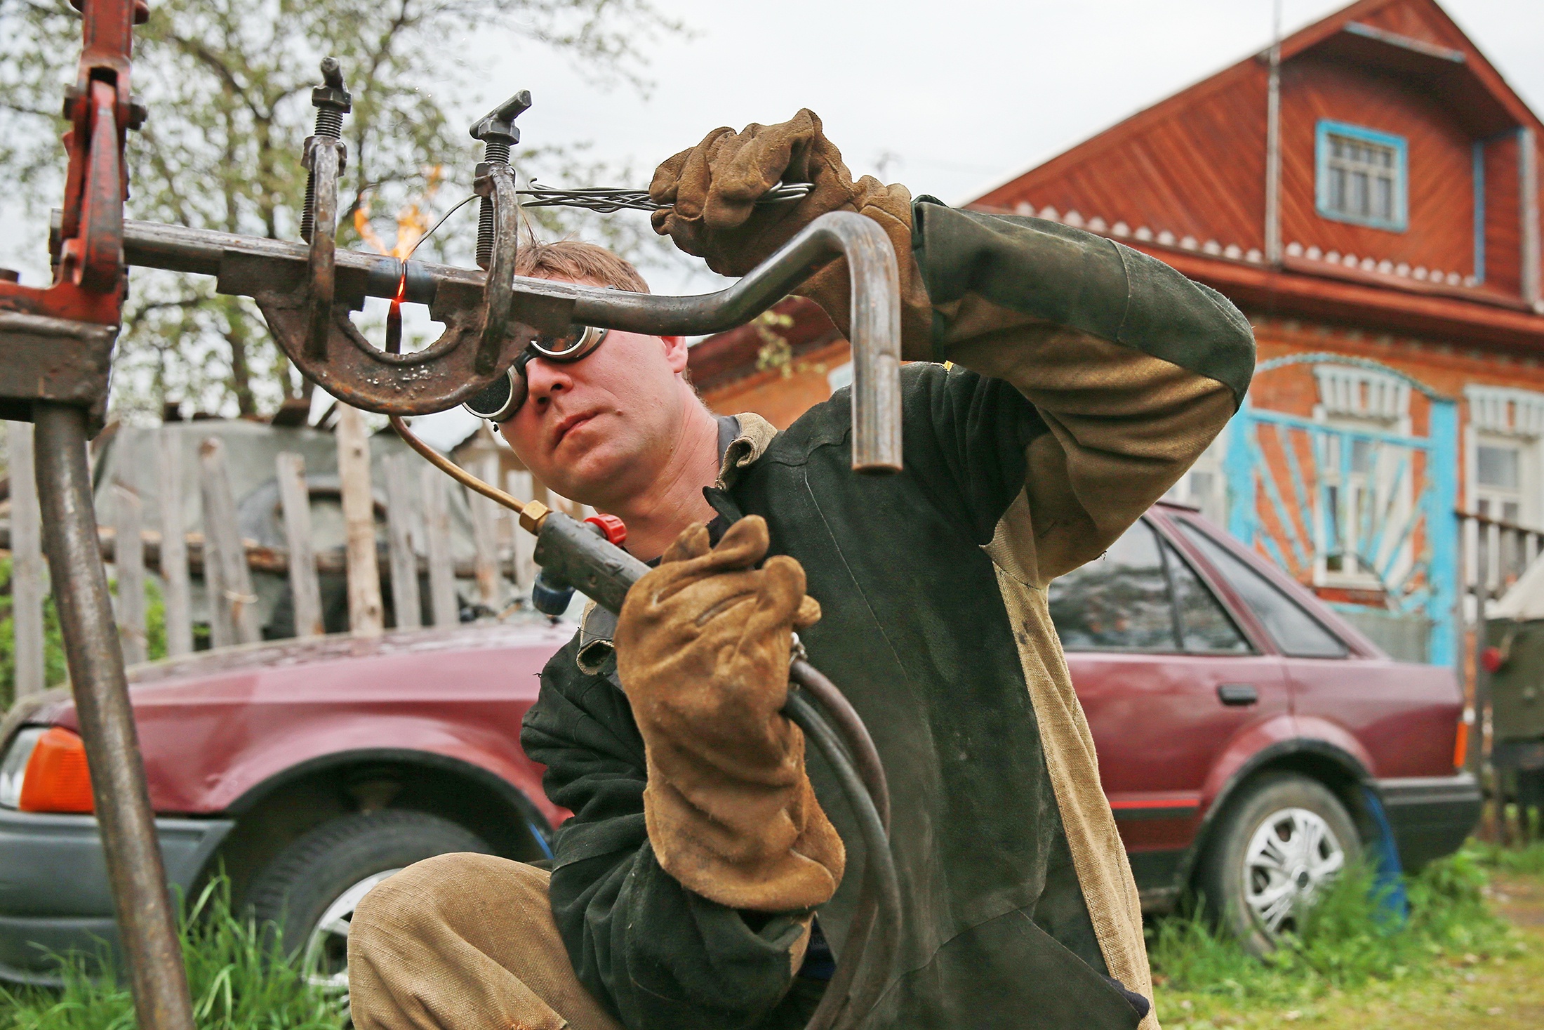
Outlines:
[[1302, 930], [1303, 913], [1362, 854], [1356, 823], [1322, 783], [1268, 774], [1243, 788], [1197, 869], [1206, 911], [1254, 954]]

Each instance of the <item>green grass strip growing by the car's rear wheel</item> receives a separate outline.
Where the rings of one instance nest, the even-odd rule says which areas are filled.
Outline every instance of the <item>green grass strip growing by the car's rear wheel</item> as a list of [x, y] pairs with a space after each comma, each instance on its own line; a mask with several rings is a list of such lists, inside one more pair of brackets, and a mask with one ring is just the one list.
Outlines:
[[[1513, 956], [1516, 934], [1485, 903], [1487, 863], [1470, 846], [1405, 882], [1410, 919], [1391, 923], [1373, 891], [1373, 872], [1346, 869], [1308, 913], [1303, 934], [1255, 959], [1201, 917], [1160, 920], [1149, 930], [1149, 954], [1163, 993], [1187, 1015], [1237, 1005], [1285, 1007], [1370, 982], [1419, 976], [1442, 959]], [[1167, 1001], [1167, 1019], [1180, 1013]], [[1201, 1025], [1201, 1024], [1195, 1024]]]

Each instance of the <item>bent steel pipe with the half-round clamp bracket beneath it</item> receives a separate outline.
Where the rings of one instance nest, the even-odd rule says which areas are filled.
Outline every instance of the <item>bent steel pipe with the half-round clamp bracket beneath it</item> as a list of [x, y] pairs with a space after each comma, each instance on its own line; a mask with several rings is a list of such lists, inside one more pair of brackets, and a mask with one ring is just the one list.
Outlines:
[[[851, 212], [811, 222], [733, 286], [716, 293], [659, 296], [513, 276], [510, 334], [491, 371], [476, 368], [480, 347], [451, 330], [414, 354], [388, 354], [358, 334], [349, 312], [366, 296], [428, 304], [446, 326], [480, 332], [482, 270], [335, 252], [332, 335], [321, 358], [306, 349], [306, 315], [286, 315], [273, 298], [304, 295], [309, 249], [298, 242], [181, 225], [124, 224], [128, 264], [213, 275], [221, 293], [259, 298], [270, 327], [303, 372], [347, 403], [388, 415], [445, 411], [485, 388], [536, 332], [573, 323], [659, 335], [732, 329], [764, 312], [811, 272], [845, 258], [852, 281], [852, 468], [900, 469], [900, 287], [896, 253], [883, 230]], [[264, 303], [267, 300], [267, 303]], [[289, 324], [289, 323], [293, 324]], [[278, 324], [275, 324], [278, 323]]]

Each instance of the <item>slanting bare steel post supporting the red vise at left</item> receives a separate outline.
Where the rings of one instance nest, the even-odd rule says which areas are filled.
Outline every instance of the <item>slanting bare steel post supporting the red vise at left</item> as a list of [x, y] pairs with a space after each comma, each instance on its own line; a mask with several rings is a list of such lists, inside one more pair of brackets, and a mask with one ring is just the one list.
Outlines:
[[97, 550], [86, 469], [86, 412], [46, 401], [34, 405], [32, 411], [43, 545], [91, 769], [113, 908], [128, 957], [134, 1013], [147, 1030], [191, 1030], [187, 971], [167, 897], [167, 872], [128, 704], [107, 571]]

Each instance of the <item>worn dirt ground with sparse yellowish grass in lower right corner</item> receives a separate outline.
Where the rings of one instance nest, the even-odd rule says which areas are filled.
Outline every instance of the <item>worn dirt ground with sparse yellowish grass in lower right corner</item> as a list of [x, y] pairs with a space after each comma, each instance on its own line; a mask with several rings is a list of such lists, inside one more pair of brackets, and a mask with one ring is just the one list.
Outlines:
[[1539, 1030], [1544, 1028], [1544, 877], [1493, 874], [1490, 899], [1518, 928], [1512, 957], [1465, 956], [1424, 970], [1419, 977], [1374, 982], [1332, 993], [1299, 1008], [1231, 1010], [1158, 991], [1164, 1030]]

